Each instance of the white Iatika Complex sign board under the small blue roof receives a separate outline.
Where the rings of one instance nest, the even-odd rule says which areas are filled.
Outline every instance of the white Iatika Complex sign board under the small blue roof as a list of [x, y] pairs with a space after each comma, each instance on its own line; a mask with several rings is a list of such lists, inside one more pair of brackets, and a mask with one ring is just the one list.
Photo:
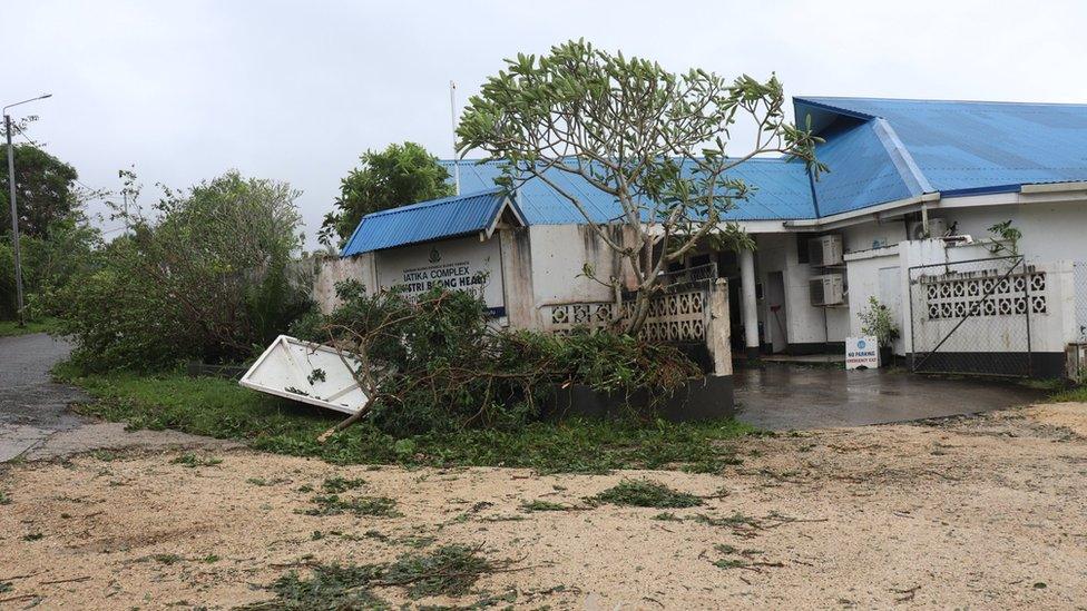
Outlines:
[[506, 316], [502, 250], [497, 236], [487, 242], [470, 236], [380, 250], [374, 262], [381, 288], [399, 286], [409, 297], [434, 286], [471, 290], [483, 296], [491, 315]]

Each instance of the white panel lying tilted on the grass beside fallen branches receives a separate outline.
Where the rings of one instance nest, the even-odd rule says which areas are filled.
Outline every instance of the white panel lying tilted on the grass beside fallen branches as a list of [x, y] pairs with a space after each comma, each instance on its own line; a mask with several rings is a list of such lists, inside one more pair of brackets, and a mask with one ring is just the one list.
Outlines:
[[[344, 358], [356, 371], [359, 361]], [[370, 397], [334, 348], [281, 335], [238, 382], [246, 388], [354, 414]]]

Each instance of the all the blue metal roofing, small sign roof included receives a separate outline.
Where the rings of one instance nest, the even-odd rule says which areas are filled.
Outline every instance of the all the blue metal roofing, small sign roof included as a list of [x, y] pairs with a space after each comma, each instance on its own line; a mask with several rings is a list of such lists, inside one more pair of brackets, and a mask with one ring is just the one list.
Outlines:
[[[826, 97], [793, 104], [797, 122], [811, 118], [825, 139], [816, 155], [830, 171], [812, 180], [802, 161], [745, 161], [729, 177], [753, 191], [736, 201], [727, 220], [822, 218], [927, 193], [1001, 193], [1087, 180], [1087, 105]], [[452, 161], [442, 164], [452, 170]], [[459, 167], [461, 190], [469, 195], [369, 215], [343, 256], [490, 227], [506, 201], [494, 184], [501, 162], [464, 160]], [[611, 196], [577, 175], [551, 169], [548, 179], [578, 197], [594, 221], [621, 216]], [[515, 214], [528, 225], [585, 223], [538, 179], [520, 185], [516, 200]]]

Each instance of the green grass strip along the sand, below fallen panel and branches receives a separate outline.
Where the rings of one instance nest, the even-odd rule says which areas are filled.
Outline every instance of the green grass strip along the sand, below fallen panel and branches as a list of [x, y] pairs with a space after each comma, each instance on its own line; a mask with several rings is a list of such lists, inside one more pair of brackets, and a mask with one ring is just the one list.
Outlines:
[[70, 364], [58, 365], [53, 374], [94, 397], [77, 406], [84, 414], [127, 422], [129, 428], [174, 428], [334, 464], [510, 466], [540, 473], [616, 469], [718, 472], [738, 462], [726, 442], [755, 432], [733, 420], [639, 423], [571, 418], [509, 431], [467, 428], [396, 438], [361, 422], [322, 444], [317, 436], [340, 415], [256, 393], [228, 380], [180, 373], [84, 374]]

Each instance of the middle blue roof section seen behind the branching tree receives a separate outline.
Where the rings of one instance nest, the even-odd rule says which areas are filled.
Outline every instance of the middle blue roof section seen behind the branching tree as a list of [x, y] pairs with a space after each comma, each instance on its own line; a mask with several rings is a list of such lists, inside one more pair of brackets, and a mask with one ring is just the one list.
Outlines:
[[[452, 161], [442, 161], [453, 174]], [[500, 161], [460, 162], [460, 184], [464, 190], [494, 186], [501, 175]], [[610, 195], [593, 187], [584, 178], [559, 169], [547, 173], [548, 180], [578, 197], [595, 223], [619, 218], [623, 208]], [[736, 201], [727, 220], [787, 220], [812, 218], [815, 207], [804, 164], [784, 158], [756, 158], [744, 161], [728, 174], [753, 188], [747, 199]], [[517, 188], [517, 204], [529, 225], [565, 225], [585, 223], [581, 213], [569, 200], [538, 179], [527, 180]]]

